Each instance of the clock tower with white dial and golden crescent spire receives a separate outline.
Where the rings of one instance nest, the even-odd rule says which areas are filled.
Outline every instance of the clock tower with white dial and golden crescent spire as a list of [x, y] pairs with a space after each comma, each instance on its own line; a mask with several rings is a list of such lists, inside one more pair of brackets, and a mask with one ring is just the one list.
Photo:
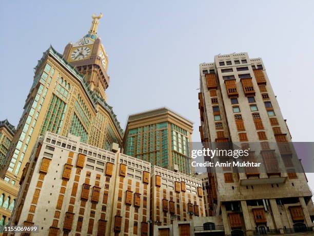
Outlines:
[[99, 16], [92, 15], [92, 24], [88, 33], [79, 41], [69, 43], [63, 57], [83, 75], [90, 89], [106, 100], [105, 90], [109, 86], [107, 75], [108, 55], [102, 41], [97, 37]]

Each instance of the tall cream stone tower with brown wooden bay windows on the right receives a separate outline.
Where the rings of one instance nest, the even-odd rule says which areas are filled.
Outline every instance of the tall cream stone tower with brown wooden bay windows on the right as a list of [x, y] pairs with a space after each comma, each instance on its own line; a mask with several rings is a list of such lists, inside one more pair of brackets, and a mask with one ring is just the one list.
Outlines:
[[233, 53], [200, 64], [199, 100], [204, 146], [237, 142], [248, 149], [258, 143], [250, 158], [263, 159], [266, 169], [235, 173], [230, 167], [208, 174], [212, 204], [206, 206], [221, 215], [225, 233], [312, 235], [312, 193], [304, 173], [285, 171], [293, 170], [291, 150], [279, 144], [291, 136], [262, 59]]

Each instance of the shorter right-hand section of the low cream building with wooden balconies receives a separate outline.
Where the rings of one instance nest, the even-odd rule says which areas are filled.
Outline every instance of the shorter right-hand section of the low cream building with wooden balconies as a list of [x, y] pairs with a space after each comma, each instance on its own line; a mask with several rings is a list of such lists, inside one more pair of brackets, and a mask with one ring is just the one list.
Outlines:
[[152, 225], [169, 225], [204, 216], [200, 179], [158, 166], [151, 170], [150, 219]]

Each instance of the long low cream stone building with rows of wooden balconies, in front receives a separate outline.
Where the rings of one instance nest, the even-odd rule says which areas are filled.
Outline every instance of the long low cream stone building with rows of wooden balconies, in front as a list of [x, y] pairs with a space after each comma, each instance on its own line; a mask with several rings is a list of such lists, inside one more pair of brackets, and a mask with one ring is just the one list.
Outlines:
[[11, 225], [39, 225], [40, 235], [151, 235], [154, 225], [203, 216], [200, 186], [117, 144], [107, 151], [47, 132], [23, 171]]

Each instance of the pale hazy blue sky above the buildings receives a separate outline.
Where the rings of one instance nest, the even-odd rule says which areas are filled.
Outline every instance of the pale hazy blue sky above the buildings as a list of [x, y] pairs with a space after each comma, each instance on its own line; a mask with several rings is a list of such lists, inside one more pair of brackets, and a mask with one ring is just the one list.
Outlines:
[[0, 120], [17, 125], [43, 51], [62, 53], [102, 12], [108, 103], [123, 128], [131, 113], [168, 106], [194, 121], [200, 141], [199, 64], [248, 52], [263, 59], [292, 140], [313, 141], [313, 9], [312, 0], [1, 1]]

